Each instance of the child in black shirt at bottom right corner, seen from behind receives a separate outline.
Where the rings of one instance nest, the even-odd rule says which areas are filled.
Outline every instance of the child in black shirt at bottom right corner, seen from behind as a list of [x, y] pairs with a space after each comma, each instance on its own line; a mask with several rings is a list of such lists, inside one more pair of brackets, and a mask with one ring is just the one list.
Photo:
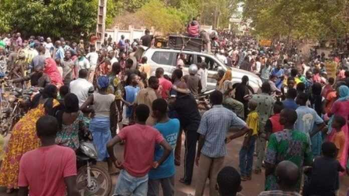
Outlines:
[[339, 188], [338, 171], [344, 168], [336, 160], [337, 149], [334, 143], [326, 141], [321, 145], [321, 156], [315, 158], [308, 185], [304, 187], [304, 196], [336, 195]]

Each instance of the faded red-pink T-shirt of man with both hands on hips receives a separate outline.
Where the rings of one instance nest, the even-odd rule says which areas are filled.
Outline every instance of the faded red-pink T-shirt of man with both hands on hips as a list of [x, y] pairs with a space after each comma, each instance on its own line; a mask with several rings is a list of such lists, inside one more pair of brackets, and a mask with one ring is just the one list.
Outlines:
[[135, 177], [148, 173], [152, 167], [155, 144], [163, 140], [161, 133], [148, 125], [133, 124], [121, 129], [118, 136], [125, 140], [125, 170]]

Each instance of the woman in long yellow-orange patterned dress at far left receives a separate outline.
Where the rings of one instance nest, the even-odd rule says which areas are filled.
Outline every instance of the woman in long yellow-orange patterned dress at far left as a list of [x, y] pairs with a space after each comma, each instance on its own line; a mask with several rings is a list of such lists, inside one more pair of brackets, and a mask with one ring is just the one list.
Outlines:
[[41, 116], [55, 113], [54, 107], [59, 105], [56, 97], [56, 86], [47, 85], [42, 92], [34, 96], [31, 109], [13, 127], [0, 167], [0, 186], [7, 186], [8, 193], [19, 188], [17, 182], [22, 155], [40, 147], [41, 142], [36, 134], [36, 121]]

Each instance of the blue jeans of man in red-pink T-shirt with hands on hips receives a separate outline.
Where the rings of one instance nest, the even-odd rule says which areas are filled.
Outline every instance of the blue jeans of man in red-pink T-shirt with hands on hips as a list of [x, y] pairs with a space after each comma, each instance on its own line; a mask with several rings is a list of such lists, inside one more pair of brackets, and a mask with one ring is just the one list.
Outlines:
[[148, 174], [134, 177], [125, 169], [120, 171], [113, 196], [144, 196], [148, 192]]

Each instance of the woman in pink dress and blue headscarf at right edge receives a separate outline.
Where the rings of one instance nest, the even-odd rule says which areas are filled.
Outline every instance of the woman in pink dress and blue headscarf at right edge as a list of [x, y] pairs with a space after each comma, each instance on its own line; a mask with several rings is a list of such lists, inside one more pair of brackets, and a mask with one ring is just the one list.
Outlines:
[[[340, 115], [345, 118], [345, 121], [348, 120], [349, 116], [349, 87], [346, 85], [341, 85], [337, 88], [337, 96], [339, 97], [332, 104], [331, 112], [328, 113], [328, 116]], [[349, 132], [348, 124], [346, 123], [342, 127], [342, 131], [345, 135], [344, 149], [341, 154], [340, 164], [343, 168], [346, 167], [346, 162], [348, 158], [348, 147], [349, 147]], [[331, 133], [328, 135], [328, 139], [331, 141], [333, 139], [334, 130], [332, 129]]]

